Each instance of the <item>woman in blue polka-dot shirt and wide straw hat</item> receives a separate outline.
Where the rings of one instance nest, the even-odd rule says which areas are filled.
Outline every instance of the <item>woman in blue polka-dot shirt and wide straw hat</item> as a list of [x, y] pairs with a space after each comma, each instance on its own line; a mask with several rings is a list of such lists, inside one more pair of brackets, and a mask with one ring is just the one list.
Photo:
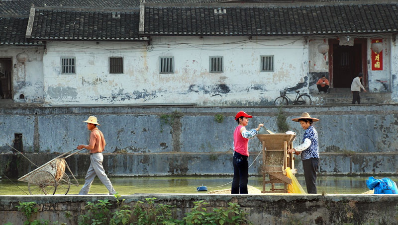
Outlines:
[[305, 130], [302, 144], [294, 149], [289, 149], [289, 153], [299, 154], [301, 152], [302, 167], [304, 169], [305, 184], [308, 194], [316, 194], [316, 172], [319, 168], [318, 133], [312, 126], [313, 122], [319, 121], [312, 118], [308, 113], [301, 114], [301, 117], [293, 119], [299, 122]]

